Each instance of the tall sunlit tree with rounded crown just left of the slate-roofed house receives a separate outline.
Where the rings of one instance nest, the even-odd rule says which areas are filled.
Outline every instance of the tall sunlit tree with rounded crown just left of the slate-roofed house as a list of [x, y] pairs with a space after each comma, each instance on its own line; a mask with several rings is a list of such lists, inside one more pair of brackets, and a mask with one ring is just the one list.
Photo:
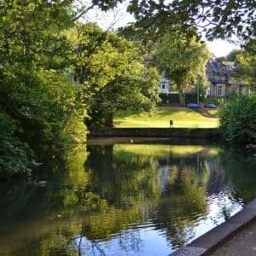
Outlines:
[[185, 104], [184, 92], [205, 76], [205, 65], [211, 57], [206, 44], [186, 34], [166, 33], [156, 44], [154, 63], [177, 86], [180, 104]]

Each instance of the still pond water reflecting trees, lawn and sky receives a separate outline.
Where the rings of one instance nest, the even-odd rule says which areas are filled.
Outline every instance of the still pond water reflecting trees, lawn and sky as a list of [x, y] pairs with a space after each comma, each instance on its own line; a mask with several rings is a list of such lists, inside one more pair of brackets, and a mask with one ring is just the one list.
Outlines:
[[255, 166], [207, 145], [80, 146], [0, 183], [0, 255], [168, 255], [256, 197]]

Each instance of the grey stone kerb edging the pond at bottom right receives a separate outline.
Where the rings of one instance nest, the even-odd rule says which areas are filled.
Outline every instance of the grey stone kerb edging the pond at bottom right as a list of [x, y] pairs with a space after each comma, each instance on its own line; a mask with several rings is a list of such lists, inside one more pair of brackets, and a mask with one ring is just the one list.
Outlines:
[[256, 199], [251, 201], [240, 212], [229, 218], [223, 224], [218, 225], [205, 235], [198, 237], [186, 246], [180, 247], [170, 256], [201, 256], [212, 253], [230, 236], [244, 229], [248, 224], [256, 219]]

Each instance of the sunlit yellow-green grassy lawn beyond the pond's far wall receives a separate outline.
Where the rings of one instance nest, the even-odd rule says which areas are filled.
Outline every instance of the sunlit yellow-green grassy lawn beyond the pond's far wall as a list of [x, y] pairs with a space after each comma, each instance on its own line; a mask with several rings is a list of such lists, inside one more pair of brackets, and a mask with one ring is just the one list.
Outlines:
[[157, 108], [154, 113], [133, 114], [119, 112], [113, 120], [115, 127], [173, 127], [182, 128], [213, 128], [218, 127], [218, 118], [206, 118], [189, 108]]

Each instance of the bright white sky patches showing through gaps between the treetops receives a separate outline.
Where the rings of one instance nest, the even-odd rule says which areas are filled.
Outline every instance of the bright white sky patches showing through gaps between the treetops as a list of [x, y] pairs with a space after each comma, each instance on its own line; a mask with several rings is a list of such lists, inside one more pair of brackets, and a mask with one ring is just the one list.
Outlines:
[[[125, 26], [127, 23], [134, 21], [133, 17], [125, 11], [124, 3], [116, 9], [103, 13], [94, 9], [86, 15], [84, 21], [94, 21], [104, 30], [116, 29], [119, 26]], [[212, 42], [206, 41], [208, 49], [215, 57], [228, 55], [232, 49], [239, 49], [236, 44], [231, 44], [222, 39], [215, 39]]]

